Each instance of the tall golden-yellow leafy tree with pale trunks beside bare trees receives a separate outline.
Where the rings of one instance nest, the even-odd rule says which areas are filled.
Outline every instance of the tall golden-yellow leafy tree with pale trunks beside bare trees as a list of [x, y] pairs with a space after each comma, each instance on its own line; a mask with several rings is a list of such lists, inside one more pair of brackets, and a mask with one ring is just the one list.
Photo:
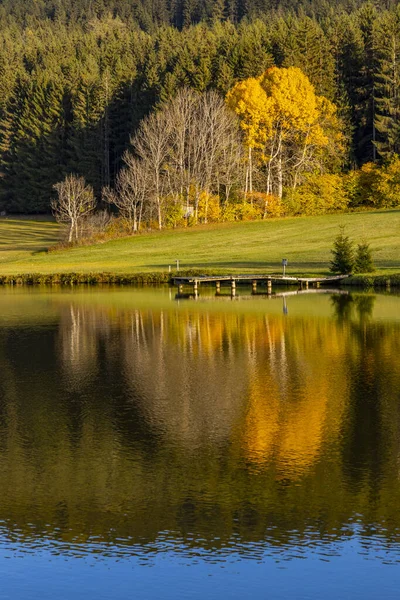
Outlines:
[[295, 188], [302, 173], [322, 171], [333, 156], [343, 153], [335, 105], [317, 96], [297, 67], [272, 67], [257, 79], [237, 83], [226, 100], [240, 119], [249, 172], [254, 162], [265, 169], [267, 194], [281, 198], [284, 185]]

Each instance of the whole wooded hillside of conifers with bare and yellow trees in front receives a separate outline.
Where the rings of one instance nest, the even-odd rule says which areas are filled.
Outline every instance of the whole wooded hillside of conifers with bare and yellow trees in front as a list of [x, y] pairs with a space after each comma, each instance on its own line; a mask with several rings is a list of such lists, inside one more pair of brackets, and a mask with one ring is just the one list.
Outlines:
[[134, 230], [398, 205], [394, 1], [0, 0], [0, 208]]

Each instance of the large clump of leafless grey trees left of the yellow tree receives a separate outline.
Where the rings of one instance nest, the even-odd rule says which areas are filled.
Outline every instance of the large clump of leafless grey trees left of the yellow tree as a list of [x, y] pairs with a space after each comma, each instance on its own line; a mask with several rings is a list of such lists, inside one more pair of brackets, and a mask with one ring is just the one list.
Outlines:
[[155, 213], [161, 229], [167, 199], [182, 215], [193, 211], [197, 221], [202, 192], [206, 222], [209, 195], [224, 186], [229, 196], [243, 173], [238, 122], [216, 92], [180, 90], [142, 121], [131, 144], [116, 187], [105, 196], [136, 228], [144, 213], [150, 220]]

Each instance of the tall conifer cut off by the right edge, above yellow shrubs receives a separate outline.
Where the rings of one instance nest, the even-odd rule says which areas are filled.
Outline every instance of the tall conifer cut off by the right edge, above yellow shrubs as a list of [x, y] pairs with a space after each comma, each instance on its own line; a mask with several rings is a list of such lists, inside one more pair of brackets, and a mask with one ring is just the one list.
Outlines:
[[400, 153], [400, 9], [384, 13], [376, 27], [375, 145], [382, 158]]

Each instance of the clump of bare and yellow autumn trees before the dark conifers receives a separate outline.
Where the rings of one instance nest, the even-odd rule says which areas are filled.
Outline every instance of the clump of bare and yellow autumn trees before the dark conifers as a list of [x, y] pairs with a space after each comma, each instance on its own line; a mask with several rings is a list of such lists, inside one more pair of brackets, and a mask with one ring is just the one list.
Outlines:
[[[331, 177], [343, 154], [334, 104], [299, 68], [272, 67], [238, 82], [225, 102], [215, 91], [179, 90], [142, 120], [115, 186], [102, 196], [129, 233], [280, 216], [288, 199], [301, 205], [290, 196], [297, 186]], [[335, 208], [337, 182], [326, 183]]]

